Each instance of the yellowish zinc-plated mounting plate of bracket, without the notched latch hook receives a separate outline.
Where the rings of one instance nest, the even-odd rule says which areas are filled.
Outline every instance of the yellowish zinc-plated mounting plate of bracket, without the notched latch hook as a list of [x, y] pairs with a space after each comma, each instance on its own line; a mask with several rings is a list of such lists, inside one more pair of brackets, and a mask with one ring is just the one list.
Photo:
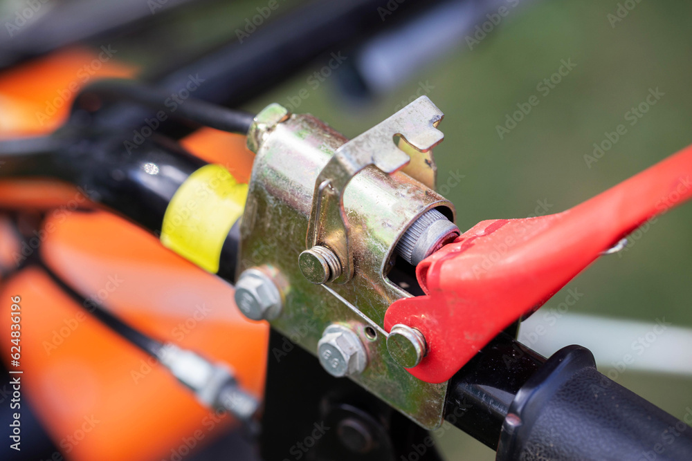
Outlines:
[[[271, 128], [271, 135], [257, 147], [237, 273], [268, 265], [285, 281], [284, 308], [271, 325], [291, 343], [270, 350], [269, 360], [281, 360], [296, 344], [316, 354], [327, 326], [350, 326], [368, 352], [365, 371], [350, 379], [426, 429], [435, 429], [442, 422], [446, 383], [412, 377], [390, 356], [384, 314], [394, 301], [410, 294], [390, 282], [385, 272], [412, 220], [432, 208], [453, 211], [453, 205], [406, 174], [363, 168], [343, 191], [353, 236], [354, 275], [348, 283], [310, 283], [298, 266], [298, 255], [305, 249], [301, 236], [308, 232], [316, 178], [345, 142], [343, 135], [310, 115], [291, 115]], [[396, 149], [391, 138], [390, 144]]]

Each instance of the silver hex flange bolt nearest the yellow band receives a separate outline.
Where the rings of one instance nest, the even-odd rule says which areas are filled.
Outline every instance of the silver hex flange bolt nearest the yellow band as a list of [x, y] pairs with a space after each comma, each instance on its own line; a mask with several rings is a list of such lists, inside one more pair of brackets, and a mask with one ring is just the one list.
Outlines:
[[281, 293], [270, 276], [248, 269], [235, 284], [235, 304], [248, 319], [273, 320], [281, 313]]

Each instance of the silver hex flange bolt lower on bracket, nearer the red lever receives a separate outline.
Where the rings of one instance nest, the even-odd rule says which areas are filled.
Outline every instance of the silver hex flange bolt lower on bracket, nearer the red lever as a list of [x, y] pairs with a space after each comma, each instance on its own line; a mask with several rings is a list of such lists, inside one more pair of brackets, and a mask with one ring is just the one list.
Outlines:
[[363, 373], [367, 352], [356, 332], [343, 325], [330, 325], [317, 344], [320, 364], [332, 376], [343, 377]]

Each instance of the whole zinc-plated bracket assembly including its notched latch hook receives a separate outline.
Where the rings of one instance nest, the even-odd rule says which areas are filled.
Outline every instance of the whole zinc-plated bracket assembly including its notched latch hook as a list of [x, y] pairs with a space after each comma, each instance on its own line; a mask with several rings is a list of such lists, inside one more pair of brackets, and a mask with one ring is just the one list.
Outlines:
[[[384, 316], [392, 303], [411, 296], [388, 276], [397, 243], [431, 210], [454, 214], [453, 204], [429, 187], [435, 176], [430, 148], [442, 139], [436, 129], [441, 118], [441, 112], [422, 98], [349, 142], [316, 117], [291, 114], [278, 104], [267, 106], [248, 132], [248, 147], [257, 155], [237, 267], [239, 274], [271, 267], [280, 275], [282, 309], [270, 320], [271, 326], [312, 354], [318, 354], [329, 326], [355, 332], [367, 352], [367, 364], [347, 379], [430, 430], [443, 420], [447, 383], [423, 382], [403, 368], [387, 344]], [[336, 155], [340, 159], [332, 160]], [[409, 172], [417, 161], [423, 168]], [[408, 175], [390, 174], [402, 168]], [[322, 197], [316, 186], [325, 180], [322, 189], [334, 189], [327, 195], [329, 207], [322, 203], [313, 210]], [[350, 267], [355, 270], [347, 283], [325, 279], [340, 272], [331, 236], [326, 238], [326, 230], [333, 228], [311, 224], [316, 223], [311, 214], [320, 216], [325, 210], [335, 211], [331, 216], [337, 229], [349, 237], [347, 254], [352, 252]], [[314, 232], [311, 225], [320, 228], [318, 242], [326, 246], [305, 250], [306, 236]]]

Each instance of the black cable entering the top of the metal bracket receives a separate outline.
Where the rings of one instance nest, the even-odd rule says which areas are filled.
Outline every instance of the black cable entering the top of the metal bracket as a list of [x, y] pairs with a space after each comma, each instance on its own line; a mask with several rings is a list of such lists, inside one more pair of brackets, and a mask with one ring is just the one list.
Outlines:
[[192, 97], [149, 86], [134, 80], [105, 79], [84, 88], [75, 99], [73, 109], [89, 95], [102, 100], [136, 102], [151, 109], [163, 111], [165, 117], [188, 120], [200, 126], [209, 126], [230, 133], [246, 134], [255, 115], [246, 111], [226, 109]]

